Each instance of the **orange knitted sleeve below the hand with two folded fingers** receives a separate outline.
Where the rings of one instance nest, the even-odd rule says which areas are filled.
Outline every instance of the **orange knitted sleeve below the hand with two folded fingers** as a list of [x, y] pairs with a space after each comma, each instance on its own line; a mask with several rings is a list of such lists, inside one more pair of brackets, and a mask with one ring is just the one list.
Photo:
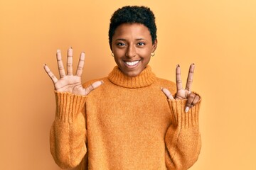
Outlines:
[[172, 124], [166, 132], [167, 169], [188, 169], [198, 159], [201, 150], [201, 135], [198, 126], [198, 113], [201, 105], [185, 113], [186, 100], [169, 100]]

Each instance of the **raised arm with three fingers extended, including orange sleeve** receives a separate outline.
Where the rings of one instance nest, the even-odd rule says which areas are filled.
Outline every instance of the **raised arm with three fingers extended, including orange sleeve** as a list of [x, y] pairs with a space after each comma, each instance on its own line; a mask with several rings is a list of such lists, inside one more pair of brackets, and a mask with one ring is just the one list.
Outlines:
[[191, 92], [194, 64], [188, 72], [186, 89], [181, 82], [181, 68], [176, 67], [175, 98], [168, 89], [162, 89], [168, 98], [172, 124], [165, 136], [166, 166], [168, 169], [188, 169], [196, 160], [201, 150], [201, 135], [198, 126], [198, 114], [201, 97]]

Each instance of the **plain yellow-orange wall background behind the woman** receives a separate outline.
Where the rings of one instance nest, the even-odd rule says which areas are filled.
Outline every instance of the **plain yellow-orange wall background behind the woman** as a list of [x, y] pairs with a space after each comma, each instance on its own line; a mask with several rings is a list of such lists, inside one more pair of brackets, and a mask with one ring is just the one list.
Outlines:
[[[185, 85], [194, 62], [193, 90], [203, 96], [203, 147], [191, 169], [256, 169], [256, 1], [0, 1], [0, 169], [59, 169], [49, 150], [54, 119], [55, 52], [85, 51], [82, 81], [114, 67], [108, 45], [110, 16], [125, 5], [151, 7], [159, 45], [150, 65]], [[65, 58], [65, 57], [64, 57]]]

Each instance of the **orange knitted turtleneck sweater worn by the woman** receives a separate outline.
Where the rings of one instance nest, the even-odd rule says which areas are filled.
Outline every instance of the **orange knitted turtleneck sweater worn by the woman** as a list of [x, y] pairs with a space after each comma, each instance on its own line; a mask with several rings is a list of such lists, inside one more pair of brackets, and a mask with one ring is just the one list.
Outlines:
[[[114, 67], [88, 96], [57, 93], [50, 151], [61, 168], [188, 169], [198, 159], [201, 101], [185, 113], [186, 100], [171, 101], [176, 85], [149, 66], [137, 77]], [[84, 84], [88, 86], [92, 81]]]

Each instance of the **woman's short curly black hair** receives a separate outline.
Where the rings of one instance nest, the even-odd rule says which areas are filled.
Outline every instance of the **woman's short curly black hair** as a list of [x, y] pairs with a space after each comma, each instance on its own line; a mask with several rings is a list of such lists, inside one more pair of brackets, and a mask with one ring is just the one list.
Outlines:
[[149, 29], [152, 42], [156, 40], [156, 23], [154, 13], [146, 6], [124, 6], [114, 11], [110, 19], [109, 42], [112, 44], [114, 30], [122, 23], [142, 23]]

